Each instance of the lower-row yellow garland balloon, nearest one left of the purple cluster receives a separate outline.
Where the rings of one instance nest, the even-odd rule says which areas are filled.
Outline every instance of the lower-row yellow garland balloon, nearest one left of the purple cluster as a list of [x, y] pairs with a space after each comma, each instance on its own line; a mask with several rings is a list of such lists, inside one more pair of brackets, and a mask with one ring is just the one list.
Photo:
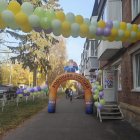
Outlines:
[[87, 24], [80, 25], [80, 36], [86, 37], [88, 36], [88, 33], [89, 33], [88, 25]]

